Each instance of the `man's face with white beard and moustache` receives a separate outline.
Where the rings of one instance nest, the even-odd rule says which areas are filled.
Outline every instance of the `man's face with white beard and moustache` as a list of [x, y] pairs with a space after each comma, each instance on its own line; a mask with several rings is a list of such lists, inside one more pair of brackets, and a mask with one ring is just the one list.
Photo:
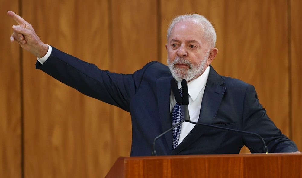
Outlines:
[[166, 49], [168, 66], [178, 81], [186, 79], [189, 82], [201, 76], [216, 55], [211, 57], [213, 49], [200, 25], [192, 21], [178, 22], [172, 28]]

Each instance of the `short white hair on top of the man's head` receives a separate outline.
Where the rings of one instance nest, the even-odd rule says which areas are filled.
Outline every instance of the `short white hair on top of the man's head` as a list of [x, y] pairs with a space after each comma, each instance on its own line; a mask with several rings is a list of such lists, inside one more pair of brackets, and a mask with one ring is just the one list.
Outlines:
[[210, 43], [210, 46], [213, 48], [215, 47], [216, 38], [217, 38], [215, 29], [211, 24], [211, 22], [207, 20], [207, 18], [199, 14], [185, 14], [175, 17], [171, 21], [169, 28], [167, 30], [167, 40], [169, 39], [172, 28], [175, 26], [175, 24], [182, 21], [194, 21], [197, 24], [199, 24], [202, 30], [204, 31], [205, 38]]

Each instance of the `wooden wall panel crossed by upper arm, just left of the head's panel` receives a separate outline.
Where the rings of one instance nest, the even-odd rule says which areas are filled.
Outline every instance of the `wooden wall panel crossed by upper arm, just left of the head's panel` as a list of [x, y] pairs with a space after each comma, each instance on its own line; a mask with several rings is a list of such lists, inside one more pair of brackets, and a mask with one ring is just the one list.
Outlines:
[[[156, 1], [112, 1], [112, 37], [113, 72], [133, 73], [157, 60]], [[117, 107], [113, 132], [113, 159], [130, 156], [130, 114]]]

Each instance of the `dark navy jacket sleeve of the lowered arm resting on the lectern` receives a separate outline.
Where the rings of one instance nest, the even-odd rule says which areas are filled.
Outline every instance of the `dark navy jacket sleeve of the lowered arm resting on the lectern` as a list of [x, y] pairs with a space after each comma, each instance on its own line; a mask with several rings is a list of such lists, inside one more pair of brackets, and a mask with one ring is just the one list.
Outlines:
[[[252, 85], [248, 85], [246, 88], [243, 105], [242, 130], [258, 133], [262, 136], [268, 146], [269, 152], [298, 151], [295, 143], [282, 134], [276, 125], [268, 118], [265, 109], [257, 99], [257, 93]], [[252, 153], [261, 152], [261, 147], [259, 147], [261, 144], [259, 144], [258, 138], [244, 135], [243, 139]]]

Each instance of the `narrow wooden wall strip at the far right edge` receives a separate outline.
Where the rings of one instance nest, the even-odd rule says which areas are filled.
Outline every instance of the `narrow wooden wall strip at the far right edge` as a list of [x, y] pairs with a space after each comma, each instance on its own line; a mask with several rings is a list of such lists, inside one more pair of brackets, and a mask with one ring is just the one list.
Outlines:
[[302, 151], [302, 2], [291, 0], [291, 92], [292, 139]]

